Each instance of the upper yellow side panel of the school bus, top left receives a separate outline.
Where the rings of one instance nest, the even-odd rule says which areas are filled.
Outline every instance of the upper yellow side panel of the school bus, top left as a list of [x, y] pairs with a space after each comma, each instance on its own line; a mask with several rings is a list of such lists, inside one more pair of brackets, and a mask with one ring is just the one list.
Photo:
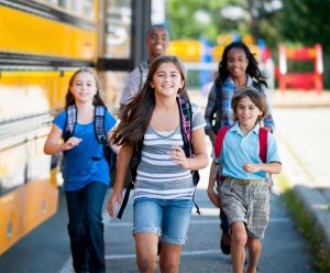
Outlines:
[[0, 52], [94, 61], [95, 30], [0, 6]]

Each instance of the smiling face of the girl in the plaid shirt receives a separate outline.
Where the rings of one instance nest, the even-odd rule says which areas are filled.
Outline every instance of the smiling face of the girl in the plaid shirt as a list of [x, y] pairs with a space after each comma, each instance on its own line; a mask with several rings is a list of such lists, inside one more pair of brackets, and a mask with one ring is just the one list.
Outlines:
[[242, 48], [232, 48], [228, 52], [227, 69], [232, 78], [245, 76], [249, 59]]

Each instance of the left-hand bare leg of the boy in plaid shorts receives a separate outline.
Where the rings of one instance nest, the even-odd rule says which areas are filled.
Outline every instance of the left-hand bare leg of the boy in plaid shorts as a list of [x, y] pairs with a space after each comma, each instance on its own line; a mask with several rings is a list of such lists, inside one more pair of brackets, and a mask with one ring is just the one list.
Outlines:
[[231, 263], [233, 273], [242, 273], [245, 261], [244, 247], [248, 241], [248, 234], [243, 222], [233, 222], [231, 225]]

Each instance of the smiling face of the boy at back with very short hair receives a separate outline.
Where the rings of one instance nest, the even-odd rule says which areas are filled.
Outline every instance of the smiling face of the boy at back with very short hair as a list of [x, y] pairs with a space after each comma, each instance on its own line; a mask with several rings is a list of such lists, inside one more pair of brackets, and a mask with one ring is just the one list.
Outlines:
[[146, 46], [151, 58], [162, 56], [168, 47], [168, 33], [164, 28], [152, 29], [146, 36]]

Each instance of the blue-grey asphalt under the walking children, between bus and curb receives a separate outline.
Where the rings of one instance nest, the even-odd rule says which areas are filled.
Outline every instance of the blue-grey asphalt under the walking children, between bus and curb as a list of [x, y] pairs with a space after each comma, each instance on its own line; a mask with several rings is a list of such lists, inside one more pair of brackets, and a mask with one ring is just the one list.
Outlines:
[[[196, 199], [202, 216], [194, 214], [188, 242], [180, 260], [180, 272], [231, 272], [230, 256], [219, 250], [219, 219], [206, 195], [208, 171], [201, 172]], [[132, 209], [128, 206], [121, 221], [106, 219], [107, 272], [138, 272], [131, 234]], [[62, 196], [58, 212], [0, 258], [0, 272], [72, 273], [66, 210]], [[19, 259], [19, 260], [18, 260]], [[273, 199], [271, 223], [263, 240], [260, 267], [263, 273], [311, 273], [310, 255], [280, 198]], [[20, 262], [18, 262], [20, 261]]]

